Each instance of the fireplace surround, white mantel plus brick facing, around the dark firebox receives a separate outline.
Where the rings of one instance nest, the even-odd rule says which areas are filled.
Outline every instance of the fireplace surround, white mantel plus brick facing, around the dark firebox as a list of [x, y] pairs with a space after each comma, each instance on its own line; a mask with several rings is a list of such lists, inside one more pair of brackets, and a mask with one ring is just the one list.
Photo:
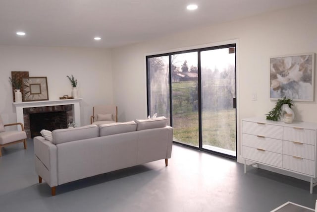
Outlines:
[[[66, 111], [69, 120], [75, 122], [78, 127], [80, 123], [80, 102], [82, 98], [78, 99], [61, 99], [61, 100], [48, 100], [48, 101], [32, 101], [32, 102], [14, 102], [16, 108], [16, 121], [24, 125], [28, 138], [31, 138], [30, 124], [25, 122], [29, 120], [29, 113], [33, 112], [52, 112], [52, 111]], [[71, 106], [71, 110], [70, 107]], [[25, 117], [28, 117], [25, 119]], [[18, 130], [21, 130], [18, 127]]]

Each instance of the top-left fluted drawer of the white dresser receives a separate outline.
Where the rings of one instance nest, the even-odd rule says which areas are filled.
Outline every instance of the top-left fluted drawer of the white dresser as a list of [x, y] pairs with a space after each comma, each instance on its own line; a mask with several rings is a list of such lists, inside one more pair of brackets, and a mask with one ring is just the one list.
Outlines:
[[282, 140], [283, 126], [270, 125], [262, 122], [243, 121], [242, 133]]

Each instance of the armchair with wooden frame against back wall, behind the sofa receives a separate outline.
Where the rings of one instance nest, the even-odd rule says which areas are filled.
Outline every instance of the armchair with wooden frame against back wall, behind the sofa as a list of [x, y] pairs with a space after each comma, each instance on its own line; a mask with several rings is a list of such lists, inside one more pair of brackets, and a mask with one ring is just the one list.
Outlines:
[[115, 105], [98, 105], [93, 107], [90, 124], [102, 125], [118, 122], [118, 108]]

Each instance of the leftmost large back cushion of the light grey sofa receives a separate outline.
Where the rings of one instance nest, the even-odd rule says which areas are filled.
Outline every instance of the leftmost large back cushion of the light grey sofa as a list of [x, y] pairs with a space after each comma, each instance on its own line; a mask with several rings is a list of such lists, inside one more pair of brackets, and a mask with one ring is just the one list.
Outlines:
[[52, 136], [54, 144], [91, 139], [99, 136], [99, 128], [97, 125], [87, 125], [78, 128], [58, 129], [53, 130]]

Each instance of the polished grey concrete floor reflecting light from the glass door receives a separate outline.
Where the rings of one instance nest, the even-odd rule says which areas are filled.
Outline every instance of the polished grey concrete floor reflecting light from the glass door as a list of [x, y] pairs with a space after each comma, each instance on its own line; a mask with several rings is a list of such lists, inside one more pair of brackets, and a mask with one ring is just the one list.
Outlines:
[[173, 145], [172, 158], [58, 186], [34, 171], [33, 140], [0, 157], [0, 212], [269, 212], [291, 201], [315, 208], [317, 188], [235, 160]]

